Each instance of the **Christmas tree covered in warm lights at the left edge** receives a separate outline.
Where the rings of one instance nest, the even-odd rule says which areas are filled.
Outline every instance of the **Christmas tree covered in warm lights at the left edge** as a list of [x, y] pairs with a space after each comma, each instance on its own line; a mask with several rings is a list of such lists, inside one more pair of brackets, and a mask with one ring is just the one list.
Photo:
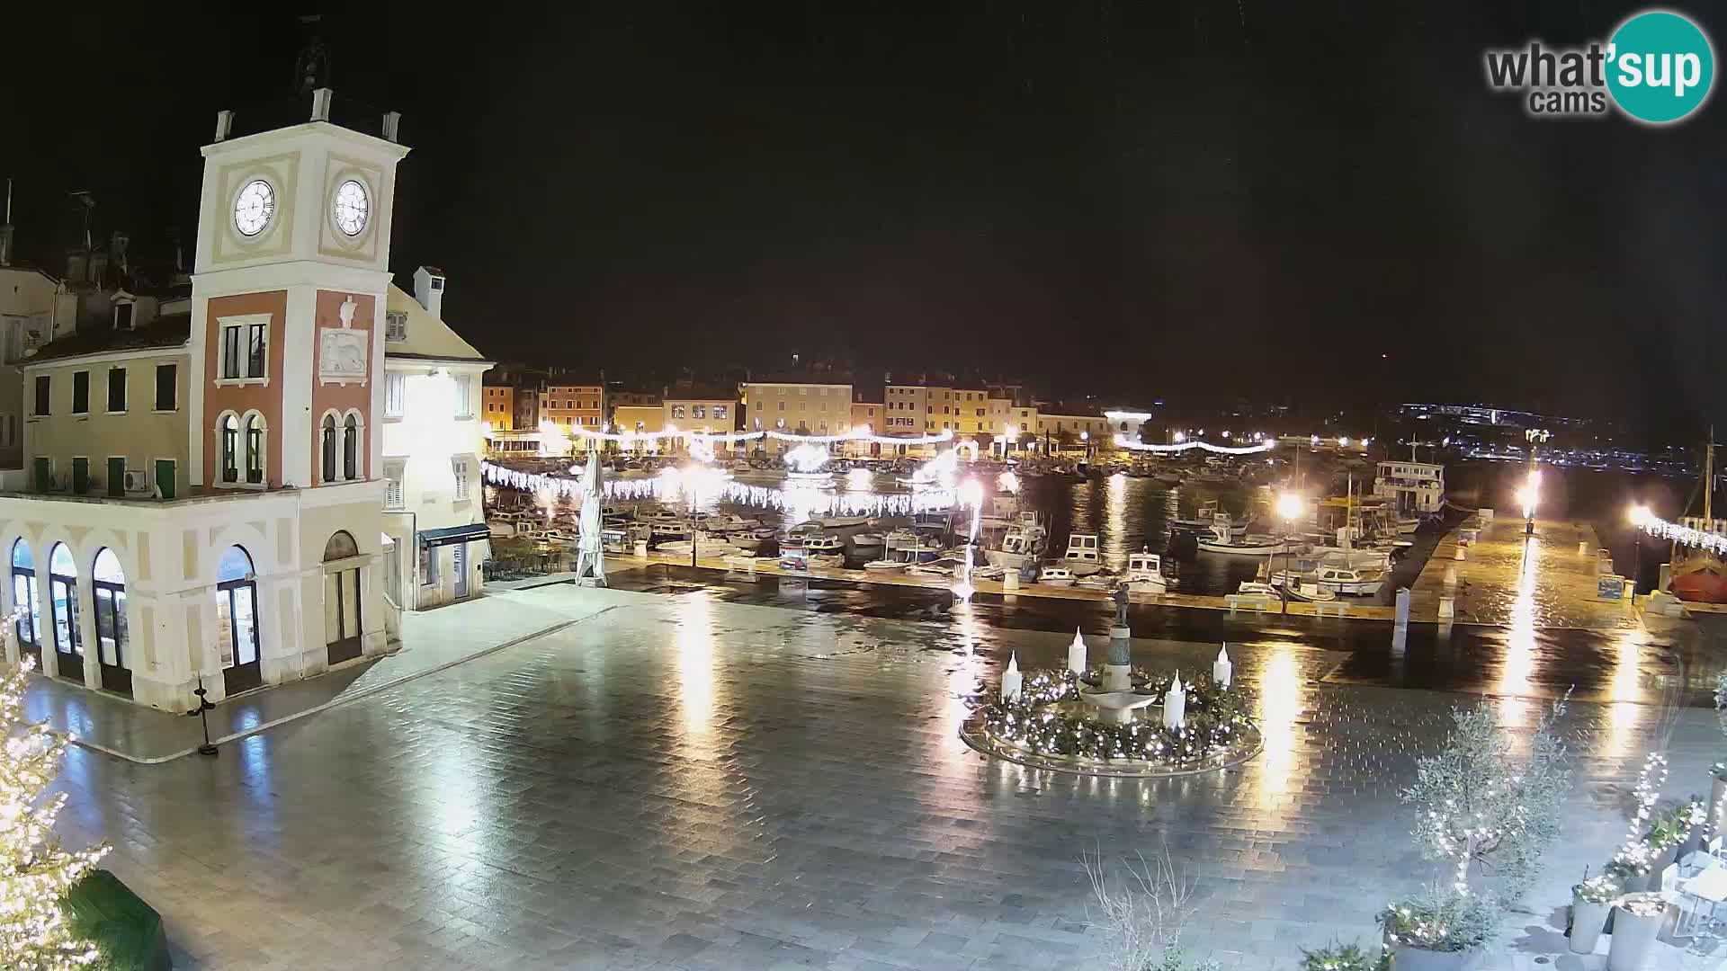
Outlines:
[[[16, 615], [5, 619], [10, 625]], [[43, 800], [59, 774], [66, 739], [45, 724], [24, 719], [24, 686], [35, 660], [26, 658], [0, 679], [0, 968], [62, 971], [100, 957], [95, 945], [73, 936], [60, 898], [83, 879], [109, 847], [62, 850], [54, 822], [67, 795]]]

